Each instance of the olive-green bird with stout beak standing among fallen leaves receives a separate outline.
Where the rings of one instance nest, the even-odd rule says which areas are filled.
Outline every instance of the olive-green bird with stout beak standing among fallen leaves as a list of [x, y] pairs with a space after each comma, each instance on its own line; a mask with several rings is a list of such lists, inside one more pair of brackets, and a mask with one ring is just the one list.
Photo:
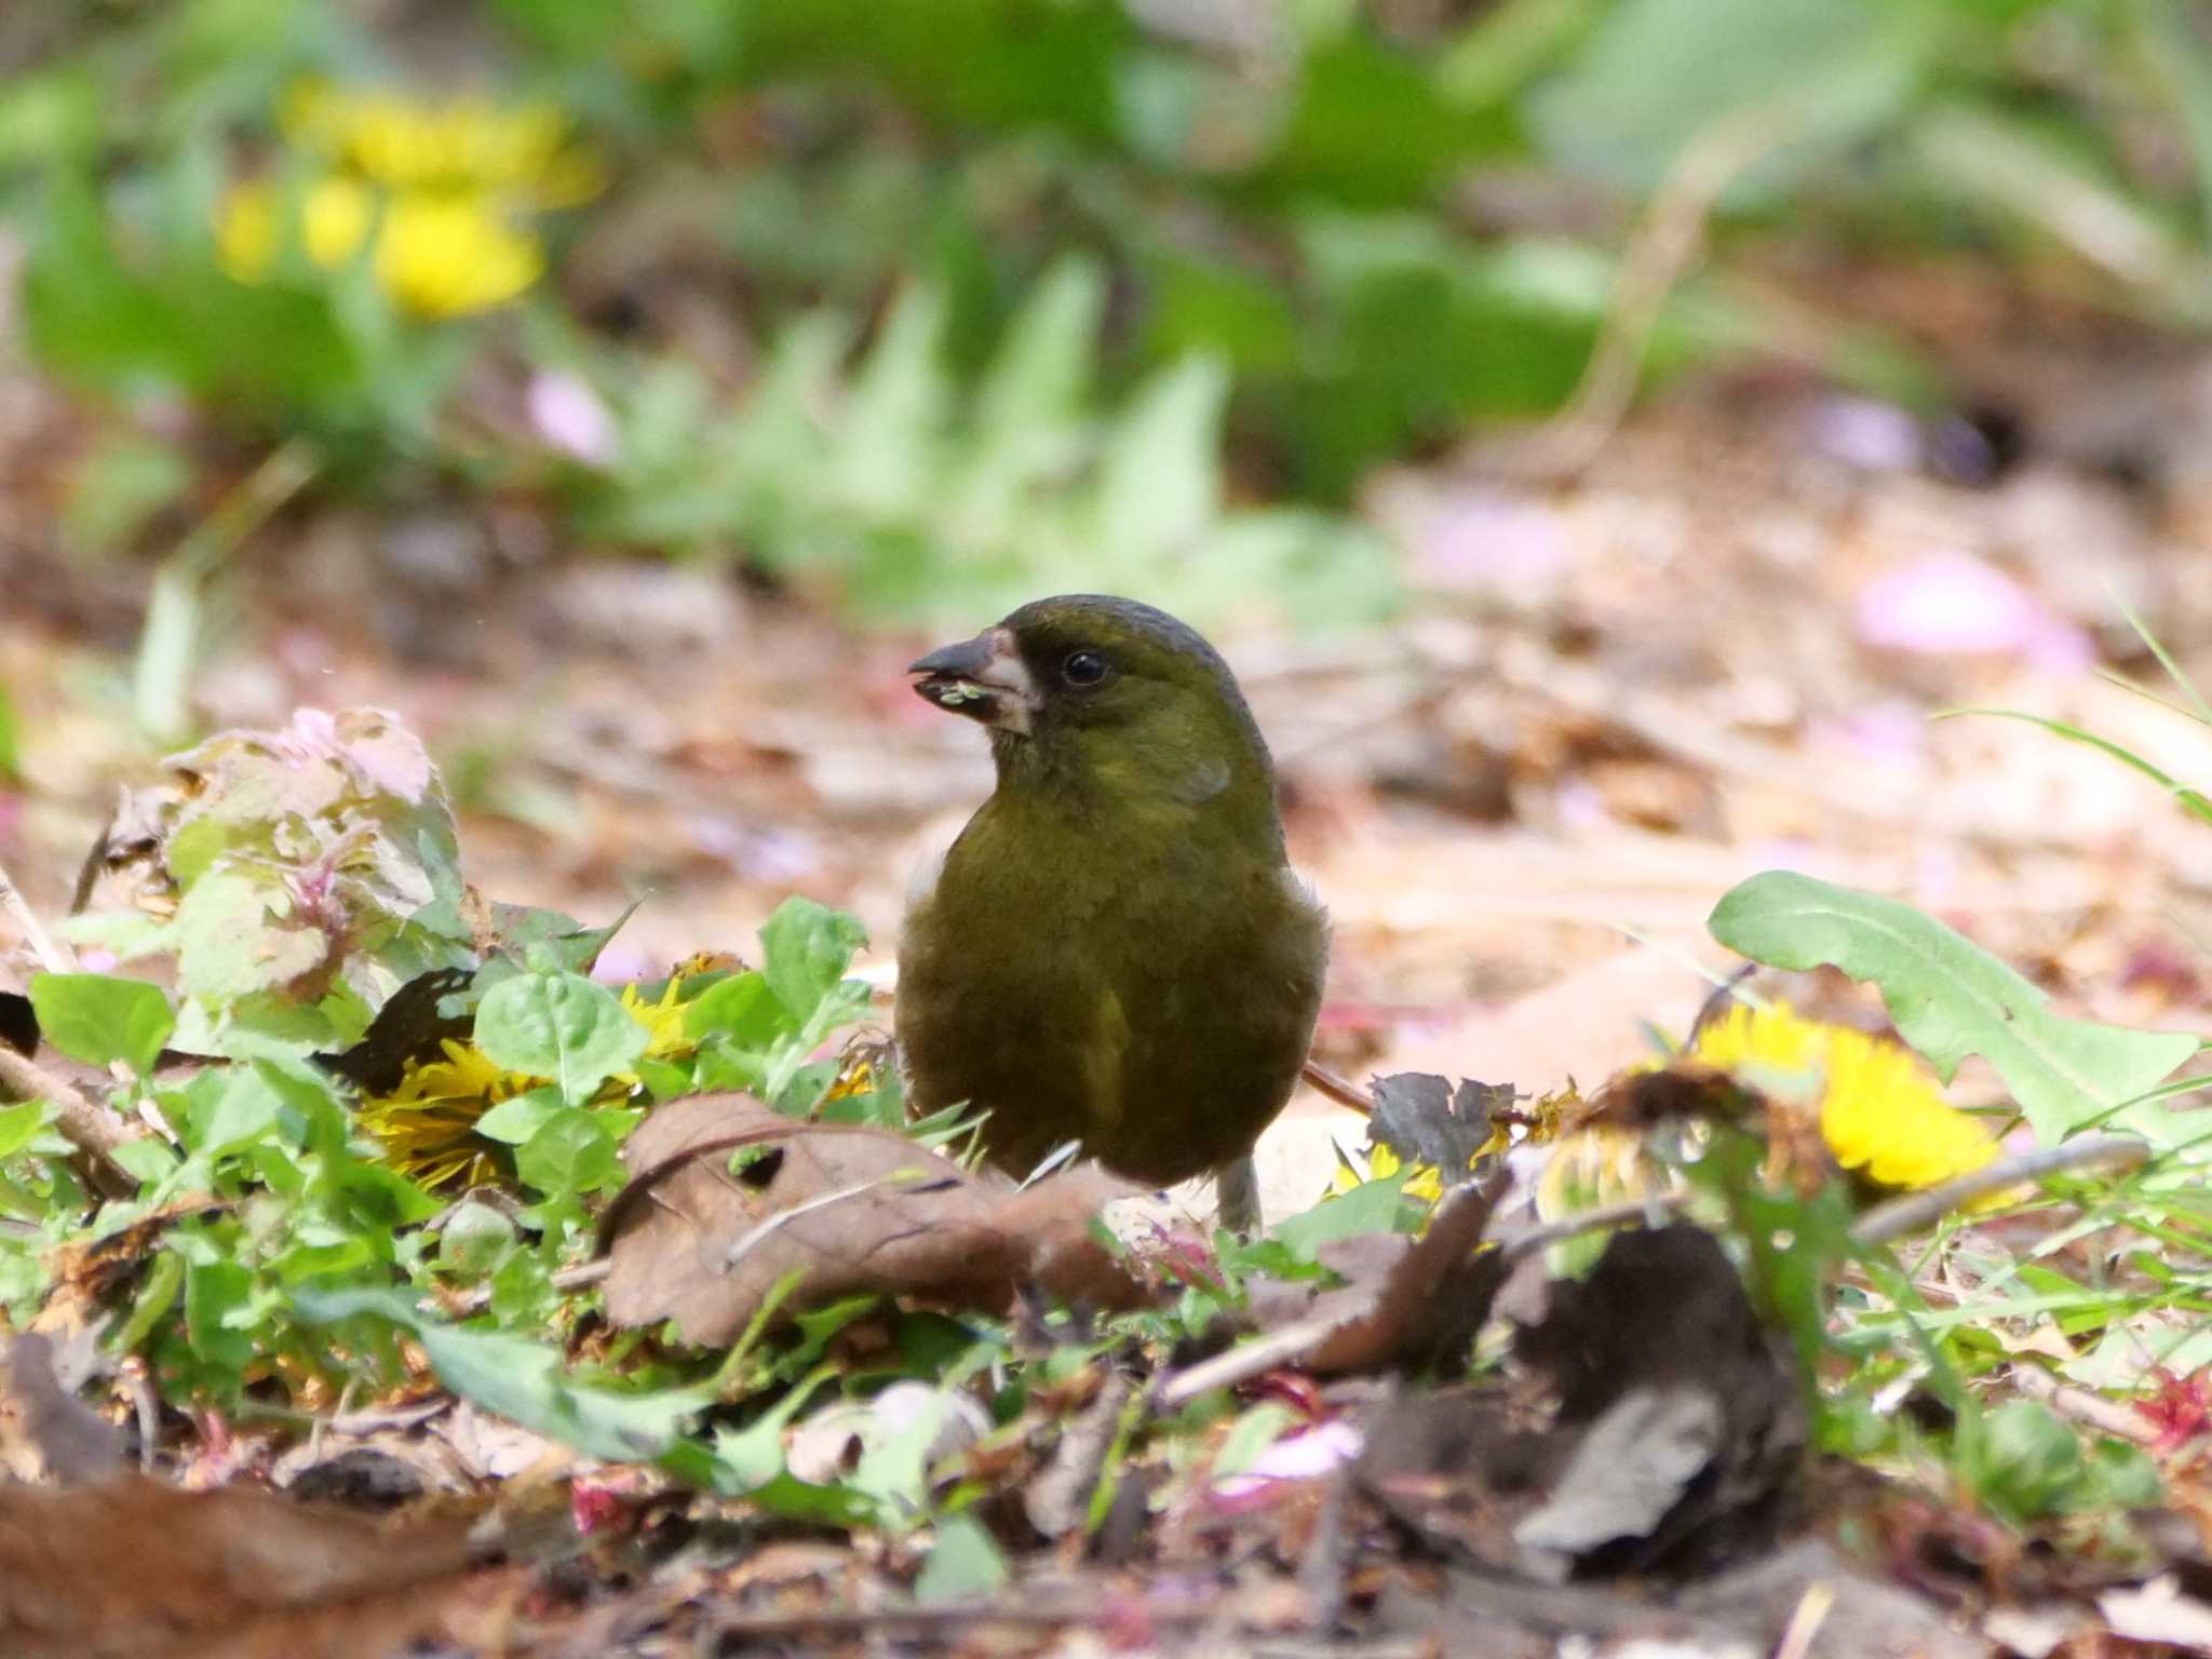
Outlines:
[[1217, 1170], [1223, 1221], [1256, 1228], [1250, 1152], [1298, 1082], [1329, 933], [1228, 664], [1152, 606], [1064, 595], [911, 672], [998, 763], [900, 936], [914, 1108], [989, 1110], [1015, 1175], [1066, 1141], [1152, 1186]]

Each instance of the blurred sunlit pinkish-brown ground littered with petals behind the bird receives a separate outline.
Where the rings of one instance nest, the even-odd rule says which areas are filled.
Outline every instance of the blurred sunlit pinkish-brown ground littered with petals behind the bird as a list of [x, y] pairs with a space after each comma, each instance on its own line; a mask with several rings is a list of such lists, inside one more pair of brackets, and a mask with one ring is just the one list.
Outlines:
[[[2161, 396], [2205, 374], [2161, 369]], [[60, 914], [153, 750], [126, 681], [144, 571], [69, 566], [38, 533], [42, 396], [15, 383], [0, 411], [0, 677], [24, 734], [0, 858]], [[1336, 922], [1321, 1055], [1590, 1082], [1646, 1022], [1688, 1024], [1719, 964], [1705, 914], [1774, 865], [1922, 905], [2075, 1011], [2205, 1024], [2212, 832], [2048, 730], [1936, 717], [2070, 721], [2201, 779], [2203, 728], [2110, 675], [2181, 697], [2130, 611], [2185, 670], [2212, 664], [2212, 493], [2073, 440], [1947, 478], [1944, 438], [1803, 387], [1705, 387], [1579, 480], [1480, 453], [1378, 480], [1367, 511], [1411, 580], [1394, 630], [1225, 630]], [[931, 641], [843, 628], [825, 595], [591, 557], [498, 502], [281, 515], [221, 617], [212, 726], [400, 712], [447, 765], [484, 891], [586, 920], [644, 900], [613, 975], [745, 951], [803, 891], [865, 918], [889, 989], [907, 872], [991, 781], [978, 734], [907, 690]], [[1338, 1128], [1318, 1099], [1292, 1119], [1265, 1159], [1279, 1201], [1325, 1179]]]

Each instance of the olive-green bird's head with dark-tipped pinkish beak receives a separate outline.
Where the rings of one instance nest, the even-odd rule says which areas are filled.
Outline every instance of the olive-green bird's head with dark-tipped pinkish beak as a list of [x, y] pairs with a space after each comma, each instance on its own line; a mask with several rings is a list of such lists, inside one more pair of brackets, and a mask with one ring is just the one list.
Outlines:
[[1037, 599], [909, 672], [925, 699], [991, 728], [1002, 787], [1263, 803], [1274, 821], [1267, 745], [1237, 677], [1166, 611], [1095, 593]]

